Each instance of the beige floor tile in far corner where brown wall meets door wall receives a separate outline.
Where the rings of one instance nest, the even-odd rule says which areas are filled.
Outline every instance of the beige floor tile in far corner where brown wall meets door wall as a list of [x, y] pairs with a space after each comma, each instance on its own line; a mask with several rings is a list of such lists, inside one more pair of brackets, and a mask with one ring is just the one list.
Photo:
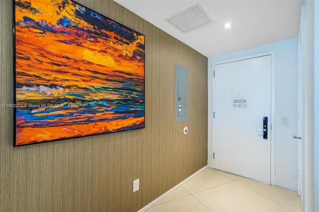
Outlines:
[[185, 183], [183, 188], [186, 189], [190, 194], [194, 194], [196, 192], [210, 189], [231, 181], [231, 179], [218, 174], [213, 169], [207, 168], [196, 177]]

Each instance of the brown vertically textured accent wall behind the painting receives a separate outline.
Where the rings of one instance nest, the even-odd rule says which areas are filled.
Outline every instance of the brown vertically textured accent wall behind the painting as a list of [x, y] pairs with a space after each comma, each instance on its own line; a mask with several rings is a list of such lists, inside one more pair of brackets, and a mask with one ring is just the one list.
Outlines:
[[[1, 212], [134, 212], [207, 165], [207, 58], [114, 1], [77, 1], [145, 34], [146, 128], [13, 148], [12, 108], [0, 107]], [[12, 0], [0, 11], [0, 104], [10, 104]], [[188, 122], [174, 123], [174, 63], [189, 68]]]

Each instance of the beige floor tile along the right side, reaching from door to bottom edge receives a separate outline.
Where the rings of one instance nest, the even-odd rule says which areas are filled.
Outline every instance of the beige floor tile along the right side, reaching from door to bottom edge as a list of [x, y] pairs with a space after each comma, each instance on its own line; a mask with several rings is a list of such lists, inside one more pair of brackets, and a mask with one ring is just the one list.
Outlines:
[[236, 182], [286, 206], [287, 208], [292, 209], [295, 212], [301, 212], [300, 198], [295, 191], [246, 178], [242, 178]]

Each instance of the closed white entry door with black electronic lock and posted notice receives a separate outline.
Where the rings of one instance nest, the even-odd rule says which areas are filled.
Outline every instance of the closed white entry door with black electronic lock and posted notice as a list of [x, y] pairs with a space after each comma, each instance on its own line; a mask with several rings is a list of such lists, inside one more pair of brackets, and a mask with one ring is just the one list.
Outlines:
[[271, 68], [271, 55], [214, 64], [212, 124], [215, 168], [269, 184]]

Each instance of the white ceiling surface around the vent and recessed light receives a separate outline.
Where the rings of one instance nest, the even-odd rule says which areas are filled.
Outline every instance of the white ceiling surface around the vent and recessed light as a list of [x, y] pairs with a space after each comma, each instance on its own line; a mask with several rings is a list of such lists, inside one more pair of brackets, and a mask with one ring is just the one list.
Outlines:
[[[206, 57], [297, 37], [304, 0], [115, 0]], [[215, 21], [183, 34], [165, 19], [199, 2]], [[232, 28], [222, 25], [230, 21]]]

